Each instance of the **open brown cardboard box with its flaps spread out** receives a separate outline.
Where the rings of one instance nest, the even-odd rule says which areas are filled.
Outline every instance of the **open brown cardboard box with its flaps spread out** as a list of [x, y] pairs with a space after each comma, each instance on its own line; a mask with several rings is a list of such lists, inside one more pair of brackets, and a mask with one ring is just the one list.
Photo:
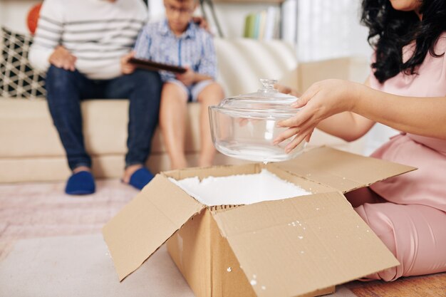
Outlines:
[[[207, 207], [168, 177], [266, 168], [313, 194]], [[162, 244], [197, 296], [317, 296], [397, 266], [343, 193], [415, 170], [318, 147], [289, 162], [162, 172], [103, 228], [120, 281]]]

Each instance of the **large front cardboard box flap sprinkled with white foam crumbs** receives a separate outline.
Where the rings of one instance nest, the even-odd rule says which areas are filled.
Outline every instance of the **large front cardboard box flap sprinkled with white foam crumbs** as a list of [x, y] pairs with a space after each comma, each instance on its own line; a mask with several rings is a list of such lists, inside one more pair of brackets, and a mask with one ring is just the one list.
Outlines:
[[257, 296], [299, 296], [399, 264], [340, 192], [212, 214]]

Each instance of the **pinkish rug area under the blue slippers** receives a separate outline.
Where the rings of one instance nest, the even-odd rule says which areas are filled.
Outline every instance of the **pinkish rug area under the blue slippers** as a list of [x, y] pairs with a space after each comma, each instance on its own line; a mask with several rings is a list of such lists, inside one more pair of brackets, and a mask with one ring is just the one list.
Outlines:
[[0, 184], [0, 260], [19, 239], [99, 233], [138, 194], [118, 179], [96, 182], [96, 193], [70, 196], [64, 182]]

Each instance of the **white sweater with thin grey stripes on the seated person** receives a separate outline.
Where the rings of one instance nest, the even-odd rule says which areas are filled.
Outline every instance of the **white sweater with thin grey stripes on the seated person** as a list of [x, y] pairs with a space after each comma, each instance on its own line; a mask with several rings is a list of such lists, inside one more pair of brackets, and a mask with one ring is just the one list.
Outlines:
[[142, 0], [45, 0], [28, 58], [34, 68], [47, 71], [48, 58], [62, 45], [88, 78], [116, 78], [120, 58], [133, 48], [146, 21]]

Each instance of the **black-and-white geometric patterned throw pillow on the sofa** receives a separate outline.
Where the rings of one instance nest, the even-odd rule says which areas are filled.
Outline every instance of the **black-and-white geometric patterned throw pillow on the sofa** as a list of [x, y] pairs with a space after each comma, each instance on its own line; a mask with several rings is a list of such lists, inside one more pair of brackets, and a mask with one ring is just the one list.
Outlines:
[[31, 36], [2, 27], [0, 32], [0, 96], [12, 98], [45, 97], [45, 78], [28, 61]]

